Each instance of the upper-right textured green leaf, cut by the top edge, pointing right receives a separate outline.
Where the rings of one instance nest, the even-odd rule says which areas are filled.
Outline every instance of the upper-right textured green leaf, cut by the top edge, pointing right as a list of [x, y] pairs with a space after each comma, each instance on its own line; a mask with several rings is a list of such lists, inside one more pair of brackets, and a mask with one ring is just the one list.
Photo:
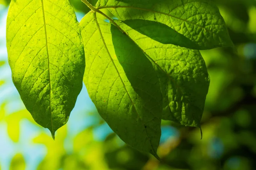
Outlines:
[[[139, 19], [162, 23], [183, 34], [201, 50], [233, 46], [224, 19], [215, 4], [209, 0], [165, 0], [154, 6], [141, 5], [135, 0], [130, 3], [99, 0], [96, 7], [109, 9], [122, 21]], [[140, 28], [147, 32], [148, 37], [157, 34], [146, 29], [148, 27]], [[166, 27], [163, 27], [162, 32], [165, 31]], [[161, 34], [161, 31], [158, 32]]]

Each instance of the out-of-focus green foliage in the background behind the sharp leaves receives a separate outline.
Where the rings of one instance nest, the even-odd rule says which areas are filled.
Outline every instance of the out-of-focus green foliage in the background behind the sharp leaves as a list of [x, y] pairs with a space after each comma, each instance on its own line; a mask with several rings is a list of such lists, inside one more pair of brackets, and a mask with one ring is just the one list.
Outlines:
[[[80, 0], [70, 0], [73, 7], [86, 13]], [[31, 144], [42, 144], [47, 154], [38, 170], [255, 170], [256, 169], [256, 1], [215, 0], [229, 28], [237, 51], [217, 48], [201, 51], [211, 78], [200, 130], [163, 121], [163, 127], [174, 127], [179, 135], [169, 136], [158, 149], [162, 162], [125, 145], [111, 133], [103, 141], [96, 139], [93, 124], [79, 132], [64, 147], [67, 126], [60, 128], [53, 141], [41, 130]], [[96, 0], [91, 0], [96, 3]], [[9, 0], [0, 0], [8, 6]], [[5, 65], [0, 61], [0, 67]], [[0, 79], [0, 85], [4, 80]], [[34, 121], [27, 111], [6, 114], [0, 107], [0, 121], [6, 122], [9, 138], [20, 140], [20, 121]], [[83, 114], [81, 112], [81, 114]], [[99, 115], [93, 113], [97, 119]], [[35, 125], [37, 126], [37, 125]], [[1, 146], [4, 147], [4, 146]], [[24, 170], [26, 160], [17, 153], [10, 169]]]

